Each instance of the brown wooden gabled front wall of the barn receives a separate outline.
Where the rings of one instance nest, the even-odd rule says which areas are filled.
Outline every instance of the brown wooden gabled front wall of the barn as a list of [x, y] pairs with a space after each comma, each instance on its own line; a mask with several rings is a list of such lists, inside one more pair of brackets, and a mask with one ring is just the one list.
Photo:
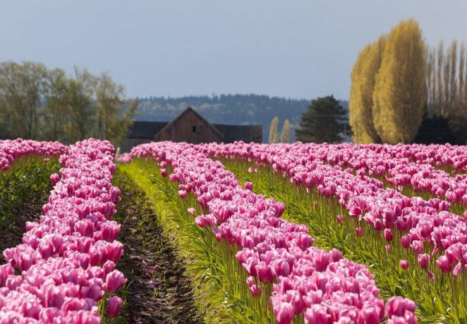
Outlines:
[[222, 136], [214, 132], [205, 120], [188, 111], [164, 128], [157, 135], [156, 140], [198, 144], [222, 142]]

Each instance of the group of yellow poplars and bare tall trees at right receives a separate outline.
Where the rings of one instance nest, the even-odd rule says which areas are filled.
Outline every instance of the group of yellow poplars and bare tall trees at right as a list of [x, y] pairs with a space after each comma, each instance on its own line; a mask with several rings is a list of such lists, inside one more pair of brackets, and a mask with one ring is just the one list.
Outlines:
[[420, 130], [448, 125], [455, 141], [465, 143], [466, 63], [466, 44], [430, 48], [413, 19], [365, 46], [351, 73], [353, 142], [410, 143]]

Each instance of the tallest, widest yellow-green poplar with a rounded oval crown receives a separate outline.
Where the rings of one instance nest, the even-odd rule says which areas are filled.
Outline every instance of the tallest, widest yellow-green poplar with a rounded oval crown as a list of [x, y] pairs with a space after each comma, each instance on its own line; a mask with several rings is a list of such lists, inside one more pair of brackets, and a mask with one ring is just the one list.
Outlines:
[[387, 37], [373, 90], [372, 118], [382, 142], [409, 143], [426, 102], [425, 42], [416, 20], [402, 21]]

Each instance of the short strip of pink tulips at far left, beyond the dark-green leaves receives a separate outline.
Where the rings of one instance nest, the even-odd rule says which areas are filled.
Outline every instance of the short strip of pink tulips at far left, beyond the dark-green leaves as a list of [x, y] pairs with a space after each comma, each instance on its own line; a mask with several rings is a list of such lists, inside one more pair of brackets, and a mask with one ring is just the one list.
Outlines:
[[0, 140], [0, 170], [6, 171], [15, 158], [29, 154], [57, 156], [67, 147], [60, 142], [37, 142], [30, 139]]

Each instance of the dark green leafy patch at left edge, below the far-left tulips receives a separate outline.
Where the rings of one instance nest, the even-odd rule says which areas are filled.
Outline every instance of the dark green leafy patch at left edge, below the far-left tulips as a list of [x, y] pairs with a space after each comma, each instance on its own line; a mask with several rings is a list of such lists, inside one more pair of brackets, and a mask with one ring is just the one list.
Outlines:
[[23, 201], [49, 190], [49, 177], [60, 166], [58, 158], [44, 161], [44, 156], [23, 156], [6, 172], [0, 171], [0, 225], [15, 216]]

